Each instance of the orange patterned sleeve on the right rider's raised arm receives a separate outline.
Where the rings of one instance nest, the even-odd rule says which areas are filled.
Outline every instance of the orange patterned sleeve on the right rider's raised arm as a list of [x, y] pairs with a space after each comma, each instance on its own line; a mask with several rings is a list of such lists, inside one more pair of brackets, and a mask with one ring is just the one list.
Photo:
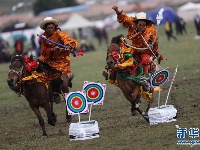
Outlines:
[[118, 22], [121, 23], [124, 28], [128, 28], [129, 26], [133, 25], [134, 19], [134, 17], [129, 17], [124, 12], [117, 16]]

